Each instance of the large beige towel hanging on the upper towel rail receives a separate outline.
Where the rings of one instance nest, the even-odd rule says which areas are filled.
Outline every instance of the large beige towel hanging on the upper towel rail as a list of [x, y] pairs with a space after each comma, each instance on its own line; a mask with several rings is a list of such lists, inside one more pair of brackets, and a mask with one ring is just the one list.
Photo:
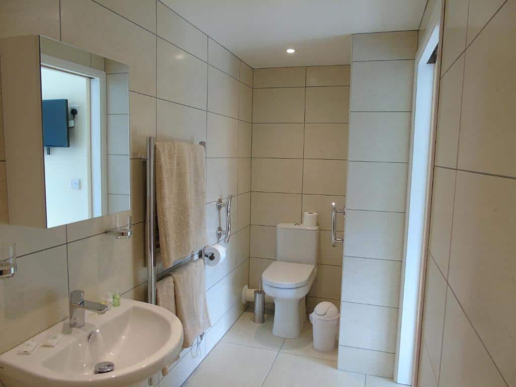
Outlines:
[[204, 147], [156, 143], [156, 207], [165, 268], [207, 245]]

